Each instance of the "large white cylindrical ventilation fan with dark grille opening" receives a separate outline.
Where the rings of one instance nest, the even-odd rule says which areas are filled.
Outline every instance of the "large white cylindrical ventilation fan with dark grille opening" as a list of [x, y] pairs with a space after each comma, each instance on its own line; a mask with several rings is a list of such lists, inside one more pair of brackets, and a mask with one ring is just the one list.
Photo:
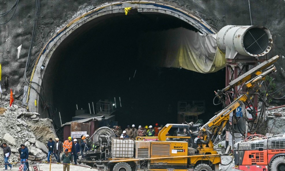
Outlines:
[[259, 57], [270, 51], [272, 35], [261, 26], [228, 25], [217, 33], [217, 46], [227, 59], [234, 59], [237, 54]]

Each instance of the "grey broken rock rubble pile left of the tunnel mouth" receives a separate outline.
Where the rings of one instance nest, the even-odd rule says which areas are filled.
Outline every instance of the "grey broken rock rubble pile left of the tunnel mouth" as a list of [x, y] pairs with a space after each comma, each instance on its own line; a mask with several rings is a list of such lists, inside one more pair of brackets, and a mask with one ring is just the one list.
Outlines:
[[[28, 160], [47, 160], [46, 148], [49, 138], [56, 138], [51, 119], [40, 119], [40, 114], [27, 112], [19, 107], [17, 101], [9, 107], [9, 102], [2, 101], [0, 108], [0, 143], [6, 142], [12, 154], [9, 162], [18, 161], [20, 144], [29, 149]], [[3, 150], [0, 151], [0, 164], [3, 163]]]

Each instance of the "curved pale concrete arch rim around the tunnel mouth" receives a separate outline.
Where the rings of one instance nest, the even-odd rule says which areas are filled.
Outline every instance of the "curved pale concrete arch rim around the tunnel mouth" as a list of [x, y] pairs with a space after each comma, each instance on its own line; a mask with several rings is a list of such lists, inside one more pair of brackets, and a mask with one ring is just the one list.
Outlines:
[[[57, 34], [48, 41], [48, 43], [44, 46], [36, 60], [30, 80], [32, 82], [36, 82], [39, 85], [42, 84], [41, 74], [44, 75], [46, 68], [41, 70], [41, 66], [45, 65], [48, 67], [48, 62], [52, 57], [53, 52], [56, 50], [59, 44], [63, 42], [63, 40], [67, 38], [74, 30], [100, 16], [116, 13], [125, 13], [126, 7], [132, 7], [132, 10], [136, 9], [140, 13], [161, 13], [174, 16], [176, 18], [179, 18], [180, 20], [189, 23], [203, 34], [215, 33], [215, 31], [202, 18], [199, 18], [194, 14], [190, 14], [175, 5], [158, 1], [119, 1], [104, 4], [94, 9], [91, 9], [88, 12], [85, 12], [81, 16], [78, 16], [65, 27], [63, 27], [61, 30], [59, 30]], [[34, 87], [38, 87], [37, 91], [40, 92], [40, 86], [35, 86], [35, 83], [32, 84]], [[33, 112], [38, 112], [39, 110], [34, 104], [34, 100], [39, 99], [37, 92], [29, 88], [27, 96], [27, 106], [29, 106], [29, 110]]]

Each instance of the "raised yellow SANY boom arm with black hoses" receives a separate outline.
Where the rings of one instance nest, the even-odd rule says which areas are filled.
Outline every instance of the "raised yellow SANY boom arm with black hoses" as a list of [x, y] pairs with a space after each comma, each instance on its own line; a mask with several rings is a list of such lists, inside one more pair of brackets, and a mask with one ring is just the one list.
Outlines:
[[[254, 67], [250, 71], [246, 72], [239, 78], [230, 82], [230, 85], [226, 88], [218, 91], [216, 94], [221, 102], [225, 102], [223, 93], [229, 91], [234, 86], [238, 86], [244, 83], [246, 92], [235, 99], [230, 105], [226, 106], [221, 112], [216, 114], [213, 118], [209, 120], [203, 127], [200, 128], [199, 136], [200, 139], [196, 139], [196, 143], [199, 145], [201, 151], [213, 151], [213, 143], [211, 141], [211, 136], [221, 134], [223, 128], [226, 126], [228, 120], [230, 119], [230, 113], [233, 112], [239, 106], [245, 106], [245, 103], [252, 99], [253, 95], [259, 92], [262, 84], [262, 80], [265, 77], [276, 72], [276, 68], [272, 63], [277, 61], [279, 56], [275, 56], [268, 61], [265, 61]], [[263, 72], [261, 70], [264, 70]], [[223, 105], [225, 105], [223, 103]], [[247, 112], [245, 110], [245, 112]], [[254, 121], [254, 119], [252, 119]], [[213, 153], [212, 153], [213, 154]]]

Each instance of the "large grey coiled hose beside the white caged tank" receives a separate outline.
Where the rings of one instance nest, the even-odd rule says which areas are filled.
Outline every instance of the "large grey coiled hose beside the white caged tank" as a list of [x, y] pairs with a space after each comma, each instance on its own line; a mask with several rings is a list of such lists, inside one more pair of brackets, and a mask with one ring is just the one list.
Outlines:
[[115, 133], [109, 127], [100, 127], [98, 129], [96, 129], [94, 134], [91, 136], [91, 137], [93, 137], [92, 140], [93, 140], [94, 144], [100, 145], [100, 136], [104, 136], [107, 139], [108, 144], [111, 144], [112, 138], [115, 138]]

